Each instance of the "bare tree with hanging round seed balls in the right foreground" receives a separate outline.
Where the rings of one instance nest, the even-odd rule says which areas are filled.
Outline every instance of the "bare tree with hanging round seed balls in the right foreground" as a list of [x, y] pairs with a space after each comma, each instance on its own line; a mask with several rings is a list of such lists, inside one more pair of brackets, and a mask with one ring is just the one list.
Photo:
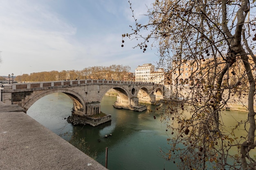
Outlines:
[[[162, 152], [168, 160], [180, 160], [177, 166], [183, 169], [256, 169], [249, 155], [256, 146], [252, 9], [255, 0], [155, 0], [145, 14], [148, 24], [135, 19], [132, 32], [122, 35], [141, 40], [143, 52], [153, 40], [159, 67], [173, 79], [163, 115], [171, 148]], [[186, 81], [184, 74], [189, 74]], [[222, 110], [236, 102], [247, 108], [248, 120], [227, 131]], [[245, 136], [236, 137], [234, 130], [241, 125]], [[230, 148], [239, 151], [231, 154]]]

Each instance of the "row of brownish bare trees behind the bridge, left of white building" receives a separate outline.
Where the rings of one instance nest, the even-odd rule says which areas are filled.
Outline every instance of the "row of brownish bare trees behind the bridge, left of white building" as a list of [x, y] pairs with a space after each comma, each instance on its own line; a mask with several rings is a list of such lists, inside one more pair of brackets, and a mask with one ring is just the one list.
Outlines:
[[44, 71], [16, 76], [17, 82], [47, 82], [74, 79], [108, 79], [124, 80], [130, 71], [130, 66], [92, 66], [81, 71]]

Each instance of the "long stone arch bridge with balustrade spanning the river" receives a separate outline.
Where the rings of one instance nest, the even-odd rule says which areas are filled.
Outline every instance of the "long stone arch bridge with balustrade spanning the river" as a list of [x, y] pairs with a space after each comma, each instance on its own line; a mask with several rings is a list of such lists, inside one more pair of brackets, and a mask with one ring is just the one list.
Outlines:
[[139, 102], [155, 104], [164, 97], [162, 85], [90, 79], [5, 84], [2, 101], [5, 104], [17, 104], [28, 110], [38, 99], [61, 92], [72, 99], [73, 114], [88, 116], [100, 113], [101, 99], [110, 89], [114, 89], [118, 94], [115, 106], [136, 111], [142, 111]]

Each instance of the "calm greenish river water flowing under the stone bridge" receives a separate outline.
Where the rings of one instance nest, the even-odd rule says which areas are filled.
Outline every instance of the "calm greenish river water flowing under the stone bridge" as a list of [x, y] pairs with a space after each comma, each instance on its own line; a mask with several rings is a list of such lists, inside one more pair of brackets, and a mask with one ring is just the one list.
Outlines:
[[[65, 118], [71, 115], [73, 103], [64, 93], [53, 93], [39, 99], [27, 114], [57, 135], [77, 132], [85, 138], [92, 152], [97, 151], [96, 161], [103, 166], [108, 147], [110, 170], [176, 170], [176, 165], [163, 159], [159, 152], [160, 148], [169, 148], [166, 139], [170, 132], [166, 131], [166, 125], [161, 122], [161, 115], [150, 111], [157, 106], [148, 105], [147, 111], [139, 113], [115, 109], [112, 104], [116, 100], [117, 97], [113, 96], [103, 97], [101, 111], [112, 115], [112, 121], [95, 127], [67, 124]], [[247, 114], [226, 111], [222, 117], [230, 126], [235, 123], [235, 119], [245, 120]], [[109, 134], [112, 136], [106, 138], [105, 135]], [[64, 135], [63, 138], [69, 140], [70, 136]]]

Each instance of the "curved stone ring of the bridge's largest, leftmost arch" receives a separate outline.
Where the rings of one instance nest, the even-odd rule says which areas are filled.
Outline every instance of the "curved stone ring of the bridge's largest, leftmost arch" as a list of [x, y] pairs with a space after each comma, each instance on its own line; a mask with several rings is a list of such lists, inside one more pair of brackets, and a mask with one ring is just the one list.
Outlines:
[[39, 93], [37, 95], [35, 95], [34, 97], [32, 97], [31, 99], [29, 99], [28, 102], [26, 102], [26, 104], [23, 106], [23, 108], [25, 110], [28, 110], [32, 104], [34, 104], [38, 99], [52, 94], [52, 93], [65, 93], [67, 96], [70, 97], [70, 99], [72, 99], [73, 101], [73, 109], [82, 113], [85, 113], [85, 101], [83, 99], [83, 97], [81, 97], [81, 95], [79, 95], [78, 93], [65, 89], [65, 88], [58, 88], [58, 89], [50, 89], [47, 91], [43, 91], [42, 93]]

